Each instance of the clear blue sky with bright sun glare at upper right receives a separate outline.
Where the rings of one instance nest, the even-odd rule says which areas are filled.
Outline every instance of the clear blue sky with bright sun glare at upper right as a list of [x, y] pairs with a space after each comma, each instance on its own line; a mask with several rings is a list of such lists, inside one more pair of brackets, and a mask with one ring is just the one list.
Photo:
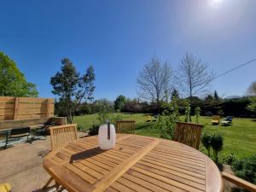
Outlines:
[[[16, 61], [39, 96], [68, 57], [80, 73], [96, 71], [96, 98], [137, 96], [136, 79], [156, 55], [173, 70], [186, 51], [215, 73], [256, 58], [256, 1], [2, 1], [0, 50]], [[256, 62], [212, 82], [220, 96], [242, 96]]]

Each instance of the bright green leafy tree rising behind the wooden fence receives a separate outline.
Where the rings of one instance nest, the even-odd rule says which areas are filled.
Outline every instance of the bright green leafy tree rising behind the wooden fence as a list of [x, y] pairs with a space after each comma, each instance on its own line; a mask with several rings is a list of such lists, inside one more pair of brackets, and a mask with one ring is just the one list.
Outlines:
[[38, 96], [36, 85], [27, 82], [8, 55], [0, 51], [0, 96]]

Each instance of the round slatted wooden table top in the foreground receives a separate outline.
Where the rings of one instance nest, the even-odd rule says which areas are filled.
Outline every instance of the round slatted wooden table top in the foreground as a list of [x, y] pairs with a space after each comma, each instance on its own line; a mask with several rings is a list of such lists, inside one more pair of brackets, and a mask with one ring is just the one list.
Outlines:
[[117, 135], [101, 150], [97, 137], [84, 137], [49, 153], [49, 175], [68, 191], [223, 191], [218, 167], [200, 151], [169, 140]]

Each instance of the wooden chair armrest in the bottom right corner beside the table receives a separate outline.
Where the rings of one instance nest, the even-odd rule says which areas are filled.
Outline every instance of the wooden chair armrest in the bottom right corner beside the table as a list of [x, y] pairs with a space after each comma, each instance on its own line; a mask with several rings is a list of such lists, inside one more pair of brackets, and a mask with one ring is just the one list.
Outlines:
[[224, 180], [229, 181], [230, 183], [236, 184], [236, 186], [241, 187], [243, 189], [247, 189], [249, 191], [256, 191], [256, 185], [253, 183], [249, 183], [239, 177], [236, 177], [234, 175], [231, 175], [228, 172], [222, 172], [222, 177]]

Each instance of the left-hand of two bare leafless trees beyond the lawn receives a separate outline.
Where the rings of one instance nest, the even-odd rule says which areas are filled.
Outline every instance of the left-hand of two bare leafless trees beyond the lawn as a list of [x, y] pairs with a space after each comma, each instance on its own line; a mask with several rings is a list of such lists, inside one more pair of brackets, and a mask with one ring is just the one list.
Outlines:
[[165, 63], [161, 63], [156, 57], [143, 67], [137, 78], [138, 94], [141, 98], [157, 103], [158, 110], [160, 102], [171, 90], [172, 69]]

